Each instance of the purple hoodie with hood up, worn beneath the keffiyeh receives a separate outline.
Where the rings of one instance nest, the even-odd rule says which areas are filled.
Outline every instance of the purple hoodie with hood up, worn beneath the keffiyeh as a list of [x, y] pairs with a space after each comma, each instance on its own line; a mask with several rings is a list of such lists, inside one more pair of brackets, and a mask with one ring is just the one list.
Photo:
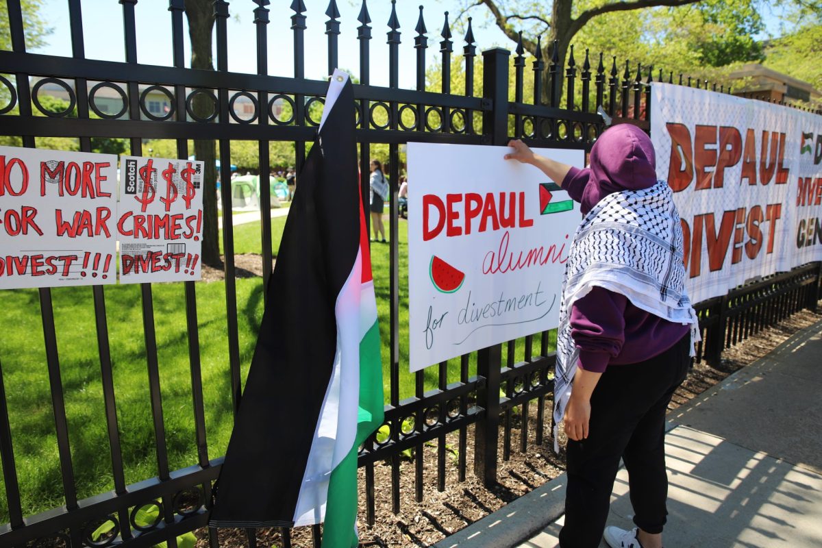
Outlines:
[[[570, 168], [561, 187], [588, 214], [614, 192], [653, 187], [656, 155], [639, 127], [621, 124], [604, 131], [590, 154], [589, 168]], [[571, 336], [580, 348], [580, 367], [601, 373], [609, 365], [645, 361], [671, 348], [689, 326], [637, 308], [623, 295], [593, 288], [570, 310]]]

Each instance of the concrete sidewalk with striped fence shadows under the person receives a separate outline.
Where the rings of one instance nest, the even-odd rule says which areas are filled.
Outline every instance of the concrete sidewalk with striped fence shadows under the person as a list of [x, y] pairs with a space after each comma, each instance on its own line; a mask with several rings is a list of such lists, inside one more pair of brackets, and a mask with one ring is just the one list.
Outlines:
[[[822, 322], [670, 415], [665, 546], [822, 546], [820, 394]], [[633, 527], [627, 479], [609, 525]], [[563, 475], [436, 546], [553, 548], [564, 495]]]

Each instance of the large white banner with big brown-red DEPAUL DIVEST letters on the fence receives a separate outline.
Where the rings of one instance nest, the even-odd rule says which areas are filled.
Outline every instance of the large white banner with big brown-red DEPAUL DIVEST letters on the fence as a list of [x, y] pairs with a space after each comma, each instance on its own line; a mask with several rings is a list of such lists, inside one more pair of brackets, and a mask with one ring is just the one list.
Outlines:
[[822, 260], [822, 117], [654, 83], [651, 137], [682, 218], [692, 302]]

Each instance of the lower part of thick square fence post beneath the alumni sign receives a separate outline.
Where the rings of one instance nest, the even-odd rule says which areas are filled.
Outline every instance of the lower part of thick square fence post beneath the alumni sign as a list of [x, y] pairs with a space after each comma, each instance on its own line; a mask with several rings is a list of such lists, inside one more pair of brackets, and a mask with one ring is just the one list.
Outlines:
[[486, 487], [496, 484], [496, 445], [500, 435], [500, 372], [502, 347], [495, 344], [477, 352], [477, 375], [485, 383], [477, 403], [485, 409], [474, 431], [473, 473]]

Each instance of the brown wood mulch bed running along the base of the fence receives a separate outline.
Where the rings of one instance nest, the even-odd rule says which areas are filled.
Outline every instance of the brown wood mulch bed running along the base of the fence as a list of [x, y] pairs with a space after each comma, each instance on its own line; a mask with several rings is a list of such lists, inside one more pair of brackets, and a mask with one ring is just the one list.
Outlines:
[[[260, 256], [237, 257], [239, 259], [235, 258], [235, 263], [238, 265], [238, 272], [242, 269], [254, 273], [256, 268], [261, 273]], [[218, 270], [214, 277], [218, 278], [221, 274], [222, 270]], [[204, 268], [204, 279], [205, 277]], [[677, 390], [669, 409], [676, 409], [687, 403], [704, 390], [725, 379], [727, 375], [760, 359], [792, 334], [797, 333], [799, 329], [819, 320], [822, 320], [822, 315], [810, 311], [798, 312], [781, 324], [764, 329], [754, 337], [737, 344], [736, 347], [724, 351], [722, 364], [718, 369], [713, 369], [704, 363], [696, 364], [686, 381]], [[365, 523], [365, 471], [360, 468], [358, 471], [360, 491], [358, 529], [361, 546], [390, 548], [432, 546], [446, 536], [500, 509], [511, 500], [559, 476], [565, 469], [565, 455], [562, 452], [559, 455], [554, 454], [552, 440], [549, 438], [548, 423], [545, 425], [543, 444], [534, 444], [536, 413], [534, 402], [529, 406], [529, 446], [526, 453], [520, 453], [521, 421], [519, 414], [514, 413], [512, 416], [511, 450], [510, 459], [507, 461], [501, 459], [503, 436], [500, 435], [498, 485], [490, 489], [483, 486], [482, 482], [473, 476], [473, 427], [469, 427], [468, 430], [468, 449], [465, 455], [468, 466], [466, 479], [463, 482], [458, 481], [457, 458], [455, 454], [446, 452], [446, 489], [443, 491], [437, 490], [436, 442], [423, 447], [423, 502], [421, 503], [415, 500], [415, 464], [409, 458], [402, 459], [399, 473], [400, 511], [397, 514], [393, 513], [391, 508], [390, 463], [377, 463], [374, 467], [376, 519], [373, 526]], [[547, 408], [546, 417], [549, 415], [550, 408]], [[456, 432], [446, 435], [446, 444], [451, 448], [458, 446]], [[205, 529], [196, 531], [196, 536], [200, 539], [197, 542], [198, 548], [208, 546]], [[293, 529], [290, 540], [291, 546], [300, 548], [314, 546], [311, 527]], [[284, 546], [277, 529], [257, 530], [256, 543], [258, 546]], [[227, 548], [248, 546], [247, 532], [242, 529], [219, 529], [219, 544]]]

